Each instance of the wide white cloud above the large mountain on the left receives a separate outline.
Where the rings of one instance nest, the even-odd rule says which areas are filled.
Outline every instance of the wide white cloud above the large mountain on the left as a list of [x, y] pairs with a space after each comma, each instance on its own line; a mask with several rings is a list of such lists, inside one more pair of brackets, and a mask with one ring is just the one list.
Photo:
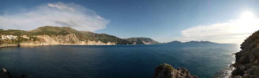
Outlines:
[[32, 30], [40, 26], [72, 27], [95, 31], [106, 28], [110, 20], [75, 3], [47, 3], [27, 11], [5, 12], [0, 15], [0, 29]]

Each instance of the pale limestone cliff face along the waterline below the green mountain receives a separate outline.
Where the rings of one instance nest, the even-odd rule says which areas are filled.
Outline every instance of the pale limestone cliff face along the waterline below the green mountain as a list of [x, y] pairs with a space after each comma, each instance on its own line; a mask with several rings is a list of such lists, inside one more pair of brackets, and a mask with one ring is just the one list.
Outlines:
[[1, 44], [0, 47], [7, 46], [48, 46], [48, 45], [116, 45], [116, 42], [101, 42], [101, 41], [81, 41], [75, 34], [67, 35], [40, 35], [37, 36], [37, 41], [24, 41], [20, 44]]

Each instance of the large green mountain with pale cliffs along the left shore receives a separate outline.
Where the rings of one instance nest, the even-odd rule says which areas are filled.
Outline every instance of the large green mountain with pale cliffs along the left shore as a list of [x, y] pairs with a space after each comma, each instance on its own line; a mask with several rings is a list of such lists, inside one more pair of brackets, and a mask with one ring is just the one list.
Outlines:
[[[0, 30], [0, 35], [27, 35], [30, 38], [18, 40], [1, 40], [0, 47], [5, 46], [41, 46], [41, 45], [118, 45], [133, 44], [116, 36], [77, 31], [70, 27], [44, 26], [30, 31]], [[33, 36], [33, 37], [32, 37]], [[8, 43], [8, 44], [7, 44]]]

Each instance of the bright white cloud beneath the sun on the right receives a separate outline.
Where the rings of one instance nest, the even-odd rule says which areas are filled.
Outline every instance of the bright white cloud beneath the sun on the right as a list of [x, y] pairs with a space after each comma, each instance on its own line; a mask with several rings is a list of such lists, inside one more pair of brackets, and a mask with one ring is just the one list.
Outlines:
[[184, 38], [210, 40], [219, 43], [242, 43], [243, 40], [259, 30], [258, 19], [237, 19], [224, 23], [198, 25], [181, 31]]

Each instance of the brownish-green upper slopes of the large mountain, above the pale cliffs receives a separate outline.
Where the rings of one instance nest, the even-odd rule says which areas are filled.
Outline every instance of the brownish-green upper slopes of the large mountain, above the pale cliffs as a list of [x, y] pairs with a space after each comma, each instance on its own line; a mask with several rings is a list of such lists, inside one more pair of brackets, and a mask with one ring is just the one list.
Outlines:
[[81, 41], [90, 40], [90, 41], [101, 41], [104, 43], [115, 42], [116, 44], [132, 44], [126, 40], [118, 38], [116, 36], [108, 35], [108, 34], [97, 34], [94, 32], [87, 31], [77, 31], [70, 27], [54, 27], [54, 26], [44, 26], [39, 27], [35, 30], [31, 30], [31, 32], [70, 32], [74, 33]]

